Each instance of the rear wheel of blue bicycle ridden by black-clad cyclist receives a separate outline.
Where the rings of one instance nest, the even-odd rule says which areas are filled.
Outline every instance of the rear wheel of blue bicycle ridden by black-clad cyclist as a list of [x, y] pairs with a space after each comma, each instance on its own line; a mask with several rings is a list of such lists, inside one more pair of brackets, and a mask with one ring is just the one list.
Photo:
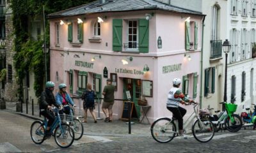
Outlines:
[[43, 122], [36, 120], [31, 125], [30, 136], [34, 143], [41, 144], [44, 142], [45, 128]]

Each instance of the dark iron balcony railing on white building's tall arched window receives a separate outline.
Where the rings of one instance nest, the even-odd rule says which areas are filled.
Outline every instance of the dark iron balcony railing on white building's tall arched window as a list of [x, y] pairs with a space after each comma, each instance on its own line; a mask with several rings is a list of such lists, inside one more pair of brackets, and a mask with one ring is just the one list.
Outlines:
[[218, 59], [222, 57], [222, 40], [211, 40], [211, 57]]

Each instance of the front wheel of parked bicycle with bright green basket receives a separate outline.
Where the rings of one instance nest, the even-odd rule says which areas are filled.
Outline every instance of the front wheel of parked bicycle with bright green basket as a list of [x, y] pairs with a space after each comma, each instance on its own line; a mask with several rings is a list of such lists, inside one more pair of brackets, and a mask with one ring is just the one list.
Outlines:
[[232, 114], [232, 117], [234, 117], [234, 122], [232, 122], [228, 117], [225, 120], [225, 126], [228, 131], [235, 133], [242, 128], [243, 122], [242, 122], [241, 117], [239, 117], [239, 115], [237, 115], [237, 114]]

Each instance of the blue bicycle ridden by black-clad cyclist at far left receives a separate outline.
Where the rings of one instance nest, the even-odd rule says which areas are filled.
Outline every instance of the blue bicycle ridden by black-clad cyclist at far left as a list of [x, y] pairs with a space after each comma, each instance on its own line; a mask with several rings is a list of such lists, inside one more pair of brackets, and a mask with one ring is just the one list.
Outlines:
[[[55, 114], [56, 118], [52, 123], [50, 132], [54, 133], [54, 140], [61, 148], [67, 148], [74, 142], [74, 130], [70, 128], [67, 122], [61, 122], [59, 109], [53, 107], [51, 109]], [[44, 121], [36, 120], [32, 123], [30, 129], [31, 139], [36, 144], [42, 144], [46, 140], [45, 128], [47, 127], [47, 119], [44, 117]]]

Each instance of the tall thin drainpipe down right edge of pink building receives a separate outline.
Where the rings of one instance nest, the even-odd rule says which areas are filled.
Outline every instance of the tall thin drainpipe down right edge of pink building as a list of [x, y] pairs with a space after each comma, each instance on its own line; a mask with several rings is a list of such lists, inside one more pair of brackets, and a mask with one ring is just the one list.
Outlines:
[[201, 73], [200, 73], [200, 99], [199, 99], [199, 103], [200, 103], [200, 108], [202, 108], [202, 89], [203, 89], [203, 51], [204, 51], [204, 20], [205, 20], [205, 16], [203, 18], [203, 22], [202, 22], [202, 47], [201, 47], [201, 60], [200, 60], [200, 65], [201, 65]]

